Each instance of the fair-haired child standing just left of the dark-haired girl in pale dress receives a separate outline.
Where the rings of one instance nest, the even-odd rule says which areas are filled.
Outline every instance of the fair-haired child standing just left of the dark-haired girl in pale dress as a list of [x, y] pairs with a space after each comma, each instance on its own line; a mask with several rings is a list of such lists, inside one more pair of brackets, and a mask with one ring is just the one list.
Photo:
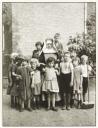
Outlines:
[[40, 95], [41, 95], [41, 74], [37, 69], [38, 60], [36, 58], [31, 59], [31, 88], [34, 101], [34, 109], [40, 108]]

